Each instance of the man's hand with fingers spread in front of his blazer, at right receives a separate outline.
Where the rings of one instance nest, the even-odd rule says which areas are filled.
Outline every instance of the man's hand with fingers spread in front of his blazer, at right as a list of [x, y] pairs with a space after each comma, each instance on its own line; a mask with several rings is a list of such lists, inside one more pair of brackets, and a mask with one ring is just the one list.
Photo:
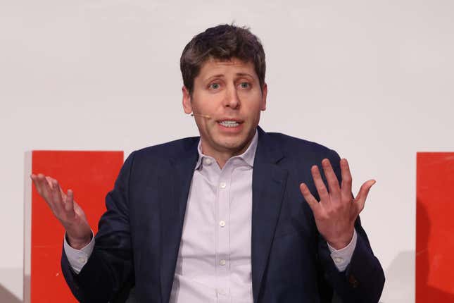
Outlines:
[[341, 159], [340, 164], [342, 184], [339, 187], [339, 181], [331, 163], [328, 159], [322, 161], [329, 192], [327, 187], [324, 186], [318, 167], [313, 166], [310, 169], [320, 197], [320, 203], [310, 193], [307, 185], [304, 183], [300, 185], [301, 193], [313, 211], [318, 231], [334, 249], [342, 249], [351, 242], [355, 220], [364, 209], [370, 187], [375, 184], [375, 180], [368, 180], [362, 184], [360, 192], [353, 199], [351, 194], [352, 178], [348, 162], [346, 159]]

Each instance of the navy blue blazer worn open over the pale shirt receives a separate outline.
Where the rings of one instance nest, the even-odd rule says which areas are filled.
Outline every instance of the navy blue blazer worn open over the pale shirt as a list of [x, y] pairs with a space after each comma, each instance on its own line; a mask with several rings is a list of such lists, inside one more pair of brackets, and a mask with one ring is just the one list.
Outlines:
[[[112, 302], [132, 285], [139, 302], [168, 302], [198, 140], [148, 147], [127, 158], [106, 196], [92, 256], [78, 275], [63, 252], [63, 274], [81, 302]], [[333, 150], [258, 128], [251, 240], [255, 303], [331, 302], [333, 291], [343, 302], [379, 300], [384, 273], [359, 219], [351, 263], [339, 272], [299, 190], [304, 182], [317, 197], [310, 167], [324, 158], [340, 180]]]

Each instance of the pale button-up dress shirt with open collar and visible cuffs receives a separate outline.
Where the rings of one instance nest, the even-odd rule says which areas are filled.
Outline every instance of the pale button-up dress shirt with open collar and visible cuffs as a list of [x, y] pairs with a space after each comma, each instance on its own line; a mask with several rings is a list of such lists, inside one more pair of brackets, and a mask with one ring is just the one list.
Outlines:
[[[202, 153], [192, 178], [170, 302], [253, 302], [251, 277], [252, 171], [258, 133], [246, 152], [220, 169]], [[350, 263], [356, 245], [329, 247], [339, 271]], [[65, 240], [65, 254], [79, 273], [92, 253], [94, 238], [81, 250]]]

